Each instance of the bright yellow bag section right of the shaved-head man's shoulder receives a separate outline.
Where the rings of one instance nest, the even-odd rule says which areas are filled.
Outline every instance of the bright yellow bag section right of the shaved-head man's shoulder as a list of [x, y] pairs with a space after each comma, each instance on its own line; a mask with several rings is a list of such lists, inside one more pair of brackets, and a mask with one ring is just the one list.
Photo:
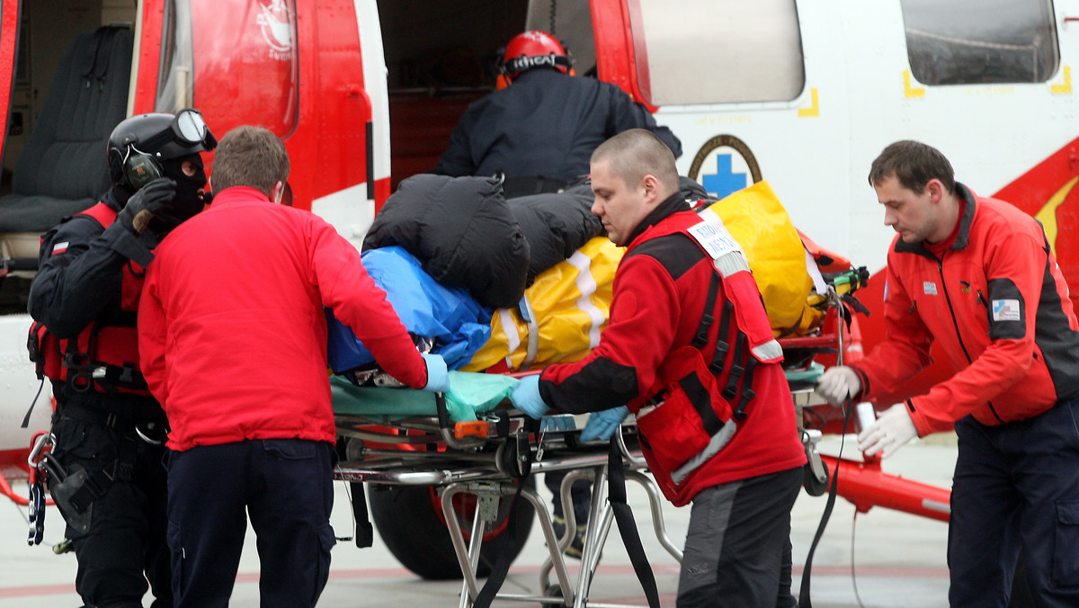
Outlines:
[[802, 335], [816, 327], [823, 312], [807, 302], [814, 283], [806, 269], [806, 249], [771, 186], [757, 181], [712, 203], [701, 217], [708, 220], [710, 211], [742, 246], [773, 335]]

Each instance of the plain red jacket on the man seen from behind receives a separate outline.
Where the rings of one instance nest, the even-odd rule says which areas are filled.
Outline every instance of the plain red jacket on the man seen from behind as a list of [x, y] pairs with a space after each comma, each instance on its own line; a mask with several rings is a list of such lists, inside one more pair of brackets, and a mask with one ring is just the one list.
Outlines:
[[423, 359], [359, 252], [312, 213], [228, 188], [154, 255], [139, 307], [139, 351], [168, 416], [172, 449], [333, 442], [324, 306], [388, 374], [412, 388], [426, 384]]

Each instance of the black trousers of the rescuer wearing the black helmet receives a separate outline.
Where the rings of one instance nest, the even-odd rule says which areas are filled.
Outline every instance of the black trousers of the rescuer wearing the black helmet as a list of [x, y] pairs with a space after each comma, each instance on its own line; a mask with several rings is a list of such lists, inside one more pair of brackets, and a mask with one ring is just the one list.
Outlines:
[[[71, 409], [72, 414], [65, 414]], [[88, 529], [67, 526], [79, 568], [76, 591], [87, 606], [142, 606], [149, 587], [153, 608], [170, 608], [173, 593], [165, 544], [165, 448], [138, 438], [131, 424], [110, 425], [73, 414], [60, 405], [53, 424], [53, 456], [70, 473], [83, 468], [101, 478], [123, 454], [133, 464], [126, 478], [112, 482], [88, 506]]]

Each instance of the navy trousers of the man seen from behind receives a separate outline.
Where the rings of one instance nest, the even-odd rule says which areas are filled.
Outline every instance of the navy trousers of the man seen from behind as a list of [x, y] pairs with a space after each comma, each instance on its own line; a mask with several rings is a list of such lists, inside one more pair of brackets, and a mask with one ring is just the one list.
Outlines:
[[333, 447], [254, 440], [168, 457], [168, 548], [177, 608], [229, 605], [247, 516], [263, 608], [314, 606], [329, 578]]

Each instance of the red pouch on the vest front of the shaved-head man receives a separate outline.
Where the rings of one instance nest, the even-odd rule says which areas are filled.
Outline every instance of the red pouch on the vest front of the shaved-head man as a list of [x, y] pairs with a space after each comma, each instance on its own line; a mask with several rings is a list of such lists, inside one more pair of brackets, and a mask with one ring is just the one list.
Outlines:
[[656, 468], [672, 474], [708, 448], [712, 436], [730, 423], [732, 409], [699, 350], [678, 349], [659, 373], [678, 379], [663, 391], [663, 403], [655, 409], [638, 413], [637, 425]]

